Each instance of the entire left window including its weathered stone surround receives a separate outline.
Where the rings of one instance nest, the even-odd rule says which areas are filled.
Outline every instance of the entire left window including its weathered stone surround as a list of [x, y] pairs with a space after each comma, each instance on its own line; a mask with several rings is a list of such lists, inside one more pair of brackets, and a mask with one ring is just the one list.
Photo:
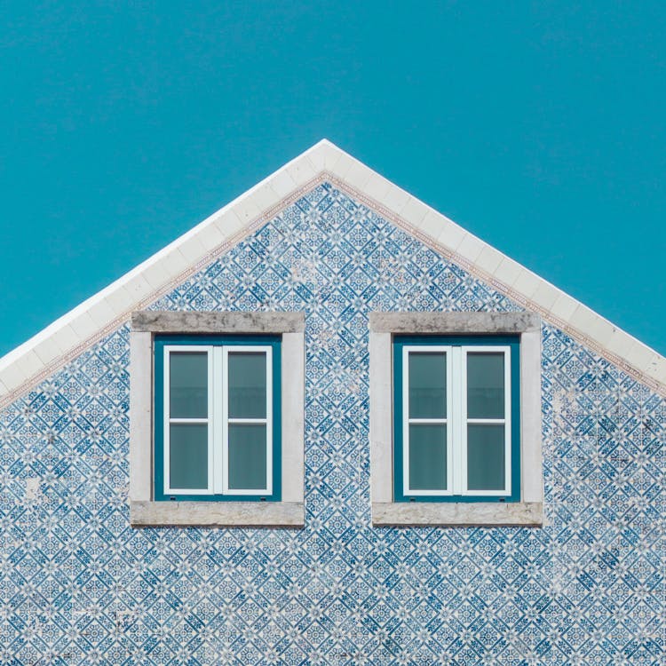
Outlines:
[[302, 527], [304, 314], [131, 323], [131, 524]]

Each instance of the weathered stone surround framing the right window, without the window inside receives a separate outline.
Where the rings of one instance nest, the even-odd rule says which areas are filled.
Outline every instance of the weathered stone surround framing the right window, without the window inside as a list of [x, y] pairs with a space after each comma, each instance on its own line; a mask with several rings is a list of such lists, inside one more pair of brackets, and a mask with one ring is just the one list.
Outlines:
[[[370, 313], [370, 495], [372, 524], [543, 525], [541, 318], [535, 313]], [[392, 337], [520, 336], [520, 502], [393, 502]]]

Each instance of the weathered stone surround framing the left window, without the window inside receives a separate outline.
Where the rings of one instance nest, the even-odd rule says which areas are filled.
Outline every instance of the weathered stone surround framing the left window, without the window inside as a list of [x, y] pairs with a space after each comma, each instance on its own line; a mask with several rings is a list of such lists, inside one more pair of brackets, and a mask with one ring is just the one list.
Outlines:
[[[155, 334], [281, 334], [281, 501], [155, 502]], [[131, 315], [130, 523], [132, 527], [304, 527], [305, 313], [170, 312]]]

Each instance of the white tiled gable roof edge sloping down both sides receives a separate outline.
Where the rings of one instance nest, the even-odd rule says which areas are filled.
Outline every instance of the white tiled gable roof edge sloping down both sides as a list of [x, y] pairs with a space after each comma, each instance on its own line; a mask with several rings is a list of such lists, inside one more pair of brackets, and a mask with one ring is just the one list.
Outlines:
[[0, 359], [0, 408], [328, 181], [472, 275], [666, 393], [666, 358], [323, 139]]

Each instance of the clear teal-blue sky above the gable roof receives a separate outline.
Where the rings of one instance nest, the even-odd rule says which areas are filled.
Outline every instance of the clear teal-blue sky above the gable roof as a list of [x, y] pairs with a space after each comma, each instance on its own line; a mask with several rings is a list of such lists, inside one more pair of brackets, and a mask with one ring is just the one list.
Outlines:
[[662, 2], [0, 5], [0, 355], [327, 138], [666, 353]]

